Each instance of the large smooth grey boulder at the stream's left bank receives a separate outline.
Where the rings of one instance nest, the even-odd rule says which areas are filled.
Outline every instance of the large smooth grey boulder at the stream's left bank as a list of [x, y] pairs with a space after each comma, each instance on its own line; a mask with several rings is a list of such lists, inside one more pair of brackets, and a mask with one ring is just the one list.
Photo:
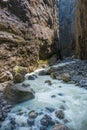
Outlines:
[[35, 97], [34, 91], [32, 88], [30, 87], [24, 88], [20, 84], [16, 84], [16, 85], [10, 84], [9, 86], [5, 88], [5, 94], [9, 100], [15, 103], [30, 100]]

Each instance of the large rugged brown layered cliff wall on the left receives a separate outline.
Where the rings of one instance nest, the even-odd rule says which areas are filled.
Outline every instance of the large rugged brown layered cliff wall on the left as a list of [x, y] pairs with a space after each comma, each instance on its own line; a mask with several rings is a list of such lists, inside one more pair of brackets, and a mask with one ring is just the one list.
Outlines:
[[0, 0], [0, 67], [37, 66], [39, 58], [53, 54], [55, 42], [58, 23], [53, 0]]

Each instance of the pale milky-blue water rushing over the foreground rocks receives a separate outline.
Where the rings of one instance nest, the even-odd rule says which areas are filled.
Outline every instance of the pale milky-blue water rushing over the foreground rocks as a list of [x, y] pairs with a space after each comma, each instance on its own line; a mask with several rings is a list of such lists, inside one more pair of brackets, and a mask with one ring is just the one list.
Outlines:
[[[35, 99], [16, 105], [8, 114], [0, 130], [11, 130], [9, 125], [11, 118], [15, 118], [17, 123], [14, 130], [31, 130], [27, 125], [27, 113], [30, 109], [37, 112], [42, 111], [49, 114], [54, 120], [64, 123], [55, 117], [54, 112], [50, 113], [46, 110], [46, 107], [57, 110], [61, 106], [65, 108], [65, 119], [69, 121], [66, 125], [71, 130], [87, 130], [87, 90], [74, 84], [65, 84], [62, 81], [53, 80], [50, 76], [39, 76], [38, 71], [34, 73], [38, 78], [34, 81], [26, 79], [25, 83], [29, 83], [35, 90]], [[45, 83], [46, 80], [50, 80], [52, 85], [49, 86]], [[24, 114], [18, 114], [20, 109]], [[37, 117], [35, 127], [32, 127], [33, 130], [39, 130], [40, 119], [41, 115]], [[49, 130], [52, 130], [52, 128], [49, 128]]]

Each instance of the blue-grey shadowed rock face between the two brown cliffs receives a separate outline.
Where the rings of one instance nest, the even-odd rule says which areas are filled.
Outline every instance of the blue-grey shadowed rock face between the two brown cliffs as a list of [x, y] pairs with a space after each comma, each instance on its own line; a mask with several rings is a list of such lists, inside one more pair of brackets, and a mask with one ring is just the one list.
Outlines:
[[75, 51], [75, 16], [77, 0], [59, 1], [60, 44], [64, 56], [72, 56]]

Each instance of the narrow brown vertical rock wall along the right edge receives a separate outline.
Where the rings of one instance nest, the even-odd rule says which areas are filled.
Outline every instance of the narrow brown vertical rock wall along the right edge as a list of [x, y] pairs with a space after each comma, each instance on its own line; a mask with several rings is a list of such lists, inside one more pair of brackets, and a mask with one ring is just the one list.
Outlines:
[[76, 50], [78, 58], [87, 59], [87, 1], [78, 0], [76, 18]]

